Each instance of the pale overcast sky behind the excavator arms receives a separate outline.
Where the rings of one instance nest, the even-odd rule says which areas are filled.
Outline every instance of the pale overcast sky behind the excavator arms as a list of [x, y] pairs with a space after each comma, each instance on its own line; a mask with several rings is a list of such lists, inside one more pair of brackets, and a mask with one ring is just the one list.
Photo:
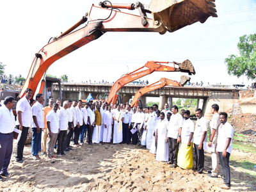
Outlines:
[[[135, 3], [135, 1], [111, 1]], [[35, 56], [52, 36], [75, 24], [99, 1], [1, 1], [0, 62], [6, 74], [27, 77]], [[150, 1], [141, 1], [149, 4]], [[216, 0], [218, 18], [209, 17], [173, 33], [108, 32], [51, 65], [48, 72], [68, 80], [116, 81], [147, 61], [190, 60], [196, 70], [191, 82], [251, 84], [246, 77], [228, 76], [225, 58], [237, 54], [239, 36], [256, 33], [256, 1]], [[138, 15], [138, 10], [130, 11]], [[141, 78], [149, 83], [161, 77], [179, 81], [180, 72], [154, 72]]]

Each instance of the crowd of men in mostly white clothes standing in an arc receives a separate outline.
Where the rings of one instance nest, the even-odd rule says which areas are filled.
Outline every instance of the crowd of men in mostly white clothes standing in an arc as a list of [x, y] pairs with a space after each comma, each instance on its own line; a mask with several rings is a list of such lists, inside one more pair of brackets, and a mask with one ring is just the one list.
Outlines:
[[[193, 169], [193, 144], [196, 164], [195, 174], [204, 170], [204, 145], [214, 148], [212, 170], [208, 176], [218, 177], [219, 161], [223, 169], [223, 189], [230, 189], [229, 157], [232, 151], [234, 129], [227, 122], [227, 113], [218, 113], [218, 104], [213, 104], [210, 136], [207, 141], [208, 122], [202, 109], [196, 109], [196, 125], [189, 118], [190, 111], [177, 106], [169, 109], [164, 104], [162, 111], [157, 104], [151, 107], [131, 109], [129, 104], [108, 105], [101, 101], [86, 103], [82, 100], [49, 99], [49, 106], [43, 108], [44, 97], [38, 93], [33, 106], [29, 105], [32, 90], [26, 90], [24, 97], [17, 102], [17, 120], [14, 121], [13, 97], [6, 97], [0, 108], [0, 174], [10, 177], [7, 172], [12, 156], [14, 124], [21, 132], [17, 143], [15, 161], [23, 163], [23, 150], [29, 127], [33, 132], [31, 157], [48, 159], [65, 156], [78, 145], [99, 143], [126, 143], [145, 147], [156, 154], [156, 161], [166, 161], [171, 168]], [[56, 154], [54, 154], [56, 150]], [[3, 177], [0, 176], [0, 180]]]

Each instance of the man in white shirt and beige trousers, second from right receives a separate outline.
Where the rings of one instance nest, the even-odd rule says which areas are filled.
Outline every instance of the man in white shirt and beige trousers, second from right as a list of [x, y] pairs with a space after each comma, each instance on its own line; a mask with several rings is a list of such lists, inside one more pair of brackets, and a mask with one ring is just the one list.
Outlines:
[[218, 113], [219, 106], [218, 104], [212, 105], [212, 120], [210, 122], [210, 135], [209, 135], [209, 143], [208, 147], [211, 147], [212, 144], [214, 144], [214, 152], [212, 153], [212, 170], [207, 171], [208, 173], [211, 173], [207, 176], [209, 177], [218, 177], [218, 168], [219, 168], [219, 157], [216, 152], [217, 147], [217, 140], [218, 140], [218, 128], [220, 127], [220, 115]]

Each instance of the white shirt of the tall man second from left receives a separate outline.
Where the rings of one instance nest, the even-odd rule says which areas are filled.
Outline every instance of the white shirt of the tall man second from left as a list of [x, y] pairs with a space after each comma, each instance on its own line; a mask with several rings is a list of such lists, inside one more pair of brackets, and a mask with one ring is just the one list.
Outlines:
[[26, 97], [22, 97], [17, 102], [16, 111], [21, 111], [21, 118], [22, 118], [22, 126], [24, 127], [31, 127], [31, 120], [32, 120], [32, 112], [31, 107], [29, 105], [29, 100]]

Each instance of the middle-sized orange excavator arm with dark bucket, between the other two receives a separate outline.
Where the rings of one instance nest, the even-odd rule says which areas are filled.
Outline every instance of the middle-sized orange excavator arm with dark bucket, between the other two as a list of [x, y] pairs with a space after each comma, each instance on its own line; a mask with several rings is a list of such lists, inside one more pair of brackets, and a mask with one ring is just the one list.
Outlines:
[[[132, 81], [136, 79], [140, 79], [141, 77], [147, 76], [149, 74], [152, 74], [152, 72], [155, 72], [155, 71], [187, 72], [189, 75], [196, 74], [192, 63], [189, 60], [185, 60], [182, 63], [177, 63], [173, 61], [172, 62], [173, 67], [168, 65], [162, 65], [161, 63], [169, 63], [169, 62], [168, 61], [166, 62], [147, 61], [147, 63], [143, 67], [140, 67], [128, 74], [125, 74], [123, 77], [120, 77], [120, 79], [118, 79], [111, 87], [111, 90], [109, 92], [108, 99], [106, 100], [106, 102], [108, 102], [108, 104], [110, 103], [116, 104], [116, 99], [118, 97], [117, 93], [120, 90], [120, 88], [122, 88], [127, 83], [131, 83]], [[175, 65], [178, 65], [178, 67], [175, 68]], [[138, 70], [144, 67], [147, 67], [147, 69], [137, 72]]]

